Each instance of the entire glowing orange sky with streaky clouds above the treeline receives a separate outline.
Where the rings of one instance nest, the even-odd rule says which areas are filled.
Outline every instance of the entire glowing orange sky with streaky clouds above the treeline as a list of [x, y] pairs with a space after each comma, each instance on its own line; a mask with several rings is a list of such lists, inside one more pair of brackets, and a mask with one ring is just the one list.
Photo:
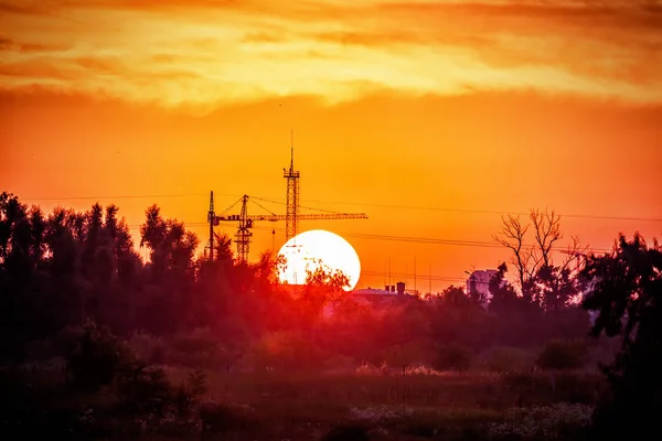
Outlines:
[[[425, 290], [429, 266], [441, 289], [509, 256], [359, 235], [490, 243], [496, 212], [530, 207], [662, 218], [659, 1], [159, 3], [0, 1], [0, 189], [45, 209], [121, 196], [99, 202], [130, 225], [156, 202], [203, 235], [210, 190], [217, 211], [285, 201], [293, 127], [302, 205], [370, 217], [301, 227], [344, 234], [360, 286], [388, 258], [413, 286], [416, 259]], [[273, 226], [282, 243], [263, 224], [253, 257]], [[563, 226], [595, 248], [662, 236]]]

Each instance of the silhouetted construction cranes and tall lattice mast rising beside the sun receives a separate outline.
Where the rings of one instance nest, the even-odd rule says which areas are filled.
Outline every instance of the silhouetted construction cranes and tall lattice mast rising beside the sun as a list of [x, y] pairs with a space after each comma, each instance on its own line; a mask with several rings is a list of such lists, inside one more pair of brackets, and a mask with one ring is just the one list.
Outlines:
[[[210, 260], [214, 260], [214, 227], [221, 222], [236, 222], [238, 224], [237, 233], [235, 234], [234, 243], [237, 246], [237, 259], [239, 261], [248, 261], [248, 251], [250, 250], [250, 240], [253, 237], [253, 223], [255, 220], [279, 222], [285, 220], [286, 241], [295, 237], [299, 232], [299, 220], [330, 220], [330, 219], [367, 219], [365, 213], [325, 213], [325, 214], [299, 214], [299, 178], [300, 173], [295, 170], [295, 147], [290, 150], [290, 168], [284, 171], [284, 178], [287, 180], [287, 209], [285, 215], [278, 215], [269, 212], [260, 204], [252, 201], [260, 208], [269, 212], [266, 215], [248, 215], [248, 195], [242, 196], [237, 202], [231, 205], [233, 208], [239, 202], [242, 208], [239, 214], [217, 216], [214, 211], [214, 192], [210, 193], [210, 209], [207, 213], [207, 223], [210, 224], [210, 239], [207, 247], [210, 248]], [[273, 232], [274, 234], [275, 232]], [[274, 247], [274, 240], [271, 240]]]

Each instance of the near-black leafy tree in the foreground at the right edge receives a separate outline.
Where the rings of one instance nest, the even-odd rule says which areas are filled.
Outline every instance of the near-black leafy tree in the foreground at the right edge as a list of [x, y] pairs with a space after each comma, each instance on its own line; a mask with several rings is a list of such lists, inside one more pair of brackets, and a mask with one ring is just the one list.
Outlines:
[[620, 235], [609, 254], [590, 256], [583, 306], [598, 312], [594, 335], [620, 335], [621, 351], [605, 367], [612, 399], [596, 413], [596, 438], [660, 439], [662, 415], [662, 248]]

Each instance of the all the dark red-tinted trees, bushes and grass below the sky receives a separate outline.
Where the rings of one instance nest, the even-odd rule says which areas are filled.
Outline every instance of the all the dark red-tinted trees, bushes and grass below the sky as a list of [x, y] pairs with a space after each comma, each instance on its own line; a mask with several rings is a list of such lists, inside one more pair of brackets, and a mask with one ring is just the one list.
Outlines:
[[[157, 206], [140, 227], [142, 261], [118, 213], [45, 215], [0, 195], [0, 433], [586, 439], [660, 409], [660, 249], [639, 237], [578, 275], [575, 254], [555, 265], [548, 252], [557, 216], [532, 214], [533, 250], [508, 218], [519, 287], [504, 263], [489, 302], [449, 287], [366, 306], [325, 269], [285, 290], [282, 262], [236, 262], [226, 237], [214, 261], [195, 256], [199, 238]], [[613, 358], [620, 336], [605, 377], [596, 361]]]

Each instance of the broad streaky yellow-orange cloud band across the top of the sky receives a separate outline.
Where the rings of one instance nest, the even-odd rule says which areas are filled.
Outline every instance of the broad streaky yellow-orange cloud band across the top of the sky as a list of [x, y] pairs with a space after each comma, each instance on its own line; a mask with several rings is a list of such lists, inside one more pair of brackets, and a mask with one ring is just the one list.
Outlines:
[[17, 0], [0, 11], [9, 90], [209, 108], [378, 89], [662, 103], [653, 0]]

